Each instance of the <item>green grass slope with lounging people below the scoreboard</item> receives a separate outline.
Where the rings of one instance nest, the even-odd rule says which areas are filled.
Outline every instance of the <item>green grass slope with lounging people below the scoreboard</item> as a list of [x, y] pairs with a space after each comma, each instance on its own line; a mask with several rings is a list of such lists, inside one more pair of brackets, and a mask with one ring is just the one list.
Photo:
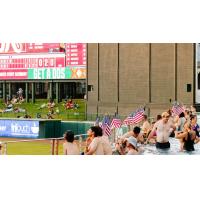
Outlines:
[[[35, 103], [22, 103], [14, 105], [14, 108], [19, 107], [22, 109], [26, 109], [27, 114], [30, 115], [32, 118], [36, 118], [37, 113], [41, 114], [42, 118], [47, 118], [47, 113], [49, 112], [48, 108], [39, 109], [42, 104], [46, 104], [48, 102], [47, 99], [37, 99]], [[73, 99], [73, 102], [79, 104], [79, 108], [75, 109], [64, 109], [64, 101], [56, 104], [54, 108], [55, 114], [53, 115], [54, 119], [61, 119], [61, 120], [77, 120], [82, 121], [85, 120], [85, 100], [83, 99]], [[0, 109], [5, 109], [5, 105], [0, 103]], [[16, 118], [17, 116], [23, 117], [25, 113], [0, 113], [1, 118]]]

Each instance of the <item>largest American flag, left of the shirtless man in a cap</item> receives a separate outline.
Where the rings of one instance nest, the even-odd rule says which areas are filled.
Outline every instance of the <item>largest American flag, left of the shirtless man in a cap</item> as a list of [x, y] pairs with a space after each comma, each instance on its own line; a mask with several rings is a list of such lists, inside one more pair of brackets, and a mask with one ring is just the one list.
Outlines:
[[128, 116], [124, 120], [123, 123], [126, 124], [126, 125], [137, 124], [137, 123], [141, 122], [143, 118], [144, 118], [144, 109], [140, 108], [140, 109], [137, 109], [130, 116]]

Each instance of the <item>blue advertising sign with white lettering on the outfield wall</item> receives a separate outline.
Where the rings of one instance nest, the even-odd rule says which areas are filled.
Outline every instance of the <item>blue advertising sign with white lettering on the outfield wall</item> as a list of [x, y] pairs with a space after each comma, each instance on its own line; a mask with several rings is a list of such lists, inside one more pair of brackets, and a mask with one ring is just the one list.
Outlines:
[[37, 138], [39, 121], [0, 120], [0, 137]]

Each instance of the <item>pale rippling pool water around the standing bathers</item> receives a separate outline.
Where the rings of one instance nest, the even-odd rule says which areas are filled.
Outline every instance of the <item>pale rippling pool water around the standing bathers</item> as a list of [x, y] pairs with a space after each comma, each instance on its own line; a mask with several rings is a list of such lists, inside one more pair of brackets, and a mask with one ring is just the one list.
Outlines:
[[171, 144], [170, 149], [163, 150], [157, 149], [155, 145], [141, 145], [141, 148], [144, 149], [142, 155], [200, 155], [200, 143], [195, 144], [195, 151], [193, 152], [180, 152], [180, 143], [178, 139], [170, 138], [169, 142]]

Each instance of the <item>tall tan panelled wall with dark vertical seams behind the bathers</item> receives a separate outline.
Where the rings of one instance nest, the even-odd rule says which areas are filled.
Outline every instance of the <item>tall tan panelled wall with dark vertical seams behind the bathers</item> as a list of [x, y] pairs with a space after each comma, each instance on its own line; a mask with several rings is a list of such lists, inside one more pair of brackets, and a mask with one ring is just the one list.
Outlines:
[[194, 104], [194, 46], [89, 43], [87, 113], [128, 115], [146, 105], [155, 117], [175, 100]]

